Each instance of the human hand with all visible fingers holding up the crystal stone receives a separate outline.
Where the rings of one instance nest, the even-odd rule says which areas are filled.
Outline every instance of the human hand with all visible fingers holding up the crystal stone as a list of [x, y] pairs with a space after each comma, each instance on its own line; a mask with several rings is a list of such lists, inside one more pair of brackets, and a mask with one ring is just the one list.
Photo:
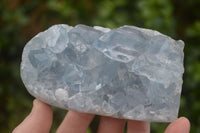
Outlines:
[[[57, 133], [85, 133], [94, 118], [93, 114], [68, 111]], [[31, 113], [18, 125], [13, 133], [48, 133], [53, 121], [51, 107], [38, 99], [33, 102]], [[128, 120], [127, 133], [150, 133], [150, 123]], [[123, 133], [125, 120], [102, 116], [98, 133]], [[190, 122], [181, 117], [172, 122], [165, 133], [189, 133]]]

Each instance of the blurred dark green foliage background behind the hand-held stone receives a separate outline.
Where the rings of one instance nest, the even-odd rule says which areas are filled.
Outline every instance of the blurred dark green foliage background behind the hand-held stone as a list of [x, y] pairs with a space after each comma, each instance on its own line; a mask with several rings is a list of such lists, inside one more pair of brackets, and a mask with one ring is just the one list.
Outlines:
[[[30, 112], [32, 100], [20, 78], [24, 45], [58, 23], [151, 28], [185, 42], [185, 73], [179, 116], [200, 133], [200, 0], [0, 0], [0, 132], [11, 132]], [[66, 111], [54, 108], [55, 132]], [[88, 133], [98, 126], [96, 117]], [[162, 133], [167, 124], [153, 123]]]

